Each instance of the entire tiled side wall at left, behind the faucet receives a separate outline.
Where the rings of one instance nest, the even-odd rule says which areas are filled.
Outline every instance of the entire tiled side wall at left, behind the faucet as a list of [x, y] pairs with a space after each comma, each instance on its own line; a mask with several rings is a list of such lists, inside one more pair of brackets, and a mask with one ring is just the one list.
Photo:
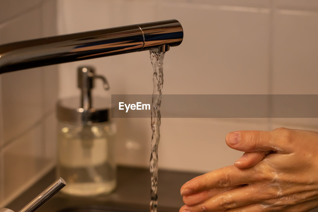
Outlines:
[[[56, 1], [0, 1], [0, 44], [56, 34]], [[57, 66], [0, 76], [0, 207], [54, 165]]]

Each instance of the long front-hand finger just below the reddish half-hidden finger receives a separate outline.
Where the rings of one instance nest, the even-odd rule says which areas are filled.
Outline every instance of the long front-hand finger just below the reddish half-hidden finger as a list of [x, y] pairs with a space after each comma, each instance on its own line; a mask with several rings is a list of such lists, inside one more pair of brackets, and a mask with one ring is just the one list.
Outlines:
[[262, 199], [263, 195], [259, 193], [256, 195], [252, 186], [244, 186], [232, 188], [207, 201], [194, 206], [185, 206], [183, 209], [191, 212], [220, 211], [258, 203]]

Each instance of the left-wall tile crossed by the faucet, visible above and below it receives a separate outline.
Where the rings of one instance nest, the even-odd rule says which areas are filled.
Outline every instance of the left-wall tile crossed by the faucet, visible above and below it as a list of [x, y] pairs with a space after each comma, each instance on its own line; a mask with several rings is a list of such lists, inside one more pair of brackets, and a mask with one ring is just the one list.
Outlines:
[[[2, 43], [39, 38], [42, 35], [40, 8], [14, 18], [0, 29]], [[2, 75], [3, 140], [16, 138], [43, 114], [43, 68]], [[10, 91], [10, 92], [8, 92]]]

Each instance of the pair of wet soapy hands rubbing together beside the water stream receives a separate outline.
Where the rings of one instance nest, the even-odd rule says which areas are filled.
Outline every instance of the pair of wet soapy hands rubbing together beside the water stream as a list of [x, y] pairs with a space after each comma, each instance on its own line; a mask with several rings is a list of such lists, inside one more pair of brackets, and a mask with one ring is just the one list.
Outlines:
[[[318, 132], [236, 131], [226, 143], [252, 152], [244, 165], [249, 168], [226, 166], [186, 182], [181, 187], [186, 205], [180, 212], [299, 212], [318, 206]], [[256, 160], [250, 158], [253, 153]]]

